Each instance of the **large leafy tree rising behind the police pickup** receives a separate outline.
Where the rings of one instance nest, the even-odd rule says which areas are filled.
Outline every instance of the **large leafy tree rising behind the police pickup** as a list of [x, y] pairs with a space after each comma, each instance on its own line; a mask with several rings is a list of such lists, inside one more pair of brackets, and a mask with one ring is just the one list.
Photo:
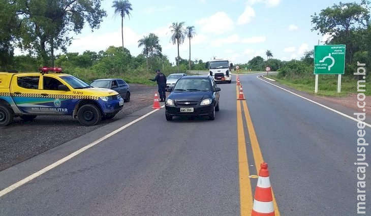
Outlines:
[[66, 51], [73, 38], [69, 32], [80, 34], [85, 22], [91, 29], [99, 28], [106, 11], [101, 0], [38, 0], [14, 1], [21, 19], [19, 48], [36, 51], [43, 64], [54, 66], [54, 50]]

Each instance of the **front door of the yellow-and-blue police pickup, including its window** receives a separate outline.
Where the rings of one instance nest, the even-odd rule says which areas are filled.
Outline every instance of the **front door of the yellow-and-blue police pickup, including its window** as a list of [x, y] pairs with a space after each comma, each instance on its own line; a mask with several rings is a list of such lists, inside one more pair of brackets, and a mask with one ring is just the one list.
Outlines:
[[44, 74], [42, 76], [42, 89], [40, 105], [45, 109], [43, 114], [68, 115], [72, 113], [74, 103], [71, 101], [70, 90], [58, 90], [59, 85], [64, 85], [57, 77]]

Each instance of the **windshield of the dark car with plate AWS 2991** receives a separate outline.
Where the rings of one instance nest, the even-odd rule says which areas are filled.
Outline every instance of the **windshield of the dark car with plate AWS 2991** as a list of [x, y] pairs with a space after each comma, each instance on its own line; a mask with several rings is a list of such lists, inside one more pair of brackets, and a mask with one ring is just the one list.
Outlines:
[[209, 91], [211, 89], [208, 79], [180, 79], [174, 86], [174, 91]]

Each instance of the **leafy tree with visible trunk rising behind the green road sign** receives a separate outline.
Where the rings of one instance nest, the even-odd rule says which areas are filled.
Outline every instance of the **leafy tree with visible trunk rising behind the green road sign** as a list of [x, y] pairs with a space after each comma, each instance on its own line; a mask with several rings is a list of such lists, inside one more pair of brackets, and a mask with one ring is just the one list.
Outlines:
[[369, 1], [334, 4], [331, 8], [321, 10], [318, 15], [315, 13], [311, 17], [315, 25], [312, 31], [318, 30], [319, 34], [329, 34], [333, 37], [341, 36], [343, 43], [347, 45], [347, 61], [351, 63], [355, 51], [352, 33], [367, 26], [367, 20], [370, 18]]

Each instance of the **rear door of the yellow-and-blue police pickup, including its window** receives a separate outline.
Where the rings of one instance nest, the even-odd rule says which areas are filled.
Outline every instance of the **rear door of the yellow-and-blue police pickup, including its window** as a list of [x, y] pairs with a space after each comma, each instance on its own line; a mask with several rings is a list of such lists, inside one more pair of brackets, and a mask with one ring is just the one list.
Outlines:
[[14, 76], [11, 95], [15, 105], [22, 113], [40, 114], [40, 75]]

